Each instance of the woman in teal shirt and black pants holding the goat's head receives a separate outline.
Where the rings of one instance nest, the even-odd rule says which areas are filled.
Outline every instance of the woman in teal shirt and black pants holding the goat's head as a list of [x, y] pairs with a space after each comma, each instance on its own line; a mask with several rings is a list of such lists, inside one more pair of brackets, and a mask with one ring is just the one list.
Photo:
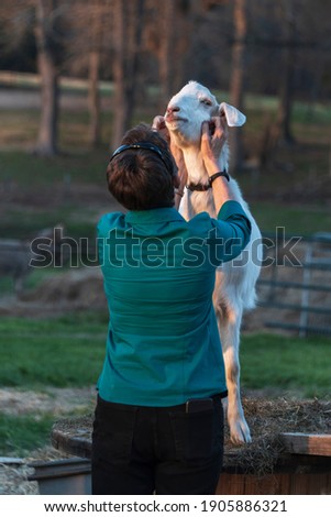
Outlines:
[[[129, 210], [98, 224], [109, 328], [92, 435], [93, 494], [213, 494], [223, 458], [221, 343], [216, 270], [250, 239], [217, 155], [220, 119], [201, 128], [218, 218], [178, 213], [183, 157], [146, 125], [129, 131], [107, 168]], [[161, 127], [161, 124], [158, 124]]]

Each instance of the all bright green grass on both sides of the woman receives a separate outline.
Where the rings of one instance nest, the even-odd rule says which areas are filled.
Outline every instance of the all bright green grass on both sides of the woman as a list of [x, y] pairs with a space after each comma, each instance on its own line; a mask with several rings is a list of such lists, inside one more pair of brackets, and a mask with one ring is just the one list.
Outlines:
[[[26, 391], [93, 385], [102, 367], [108, 316], [67, 314], [56, 319], [0, 319], [0, 386]], [[243, 389], [330, 398], [331, 339], [267, 333], [242, 337]], [[56, 418], [60, 418], [57, 415]], [[25, 454], [49, 443], [55, 417], [0, 415], [0, 455]]]

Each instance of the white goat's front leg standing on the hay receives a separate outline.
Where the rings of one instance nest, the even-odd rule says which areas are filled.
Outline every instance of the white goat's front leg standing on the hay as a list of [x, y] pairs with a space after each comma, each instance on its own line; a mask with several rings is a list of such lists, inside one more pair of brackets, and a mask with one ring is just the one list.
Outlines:
[[227, 315], [223, 312], [222, 317], [218, 317], [228, 386], [225, 408], [231, 441], [240, 444], [251, 441], [240, 395], [239, 344], [242, 311], [227, 307], [225, 312]]

